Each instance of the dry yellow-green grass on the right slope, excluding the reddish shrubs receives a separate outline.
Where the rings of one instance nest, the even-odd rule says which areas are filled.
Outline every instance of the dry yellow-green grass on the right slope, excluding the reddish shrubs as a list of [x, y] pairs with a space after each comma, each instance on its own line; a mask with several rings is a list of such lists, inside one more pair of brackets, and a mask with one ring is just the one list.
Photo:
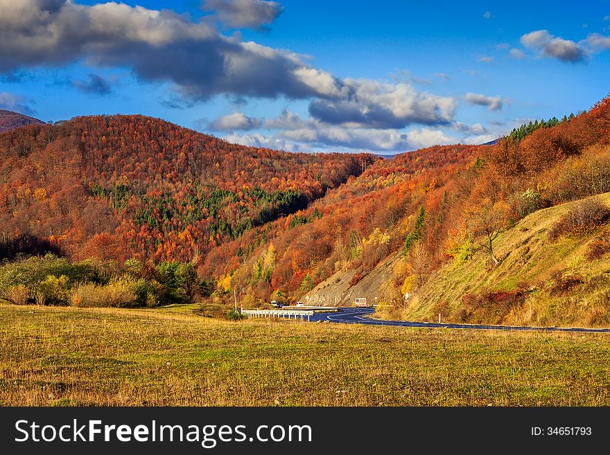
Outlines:
[[[610, 193], [593, 198], [610, 204]], [[449, 314], [445, 321], [462, 322], [458, 312], [463, 307], [464, 294], [480, 294], [485, 289], [512, 290], [521, 282], [535, 290], [528, 293], [525, 305], [508, 314], [502, 323], [609, 327], [610, 255], [592, 261], [585, 260], [584, 255], [589, 251], [591, 238], [610, 228], [581, 238], [548, 238], [555, 222], [582, 200], [532, 213], [502, 233], [495, 248], [498, 257], [505, 259], [498, 267], [488, 269], [487, 256], [483, 252], [467, 262], [444, 265], [413, 293], [406, 309], [394, 314], [395, 319], [435, 321], [436, 305], [446, 302]], [[568, 295], [552, 295], [549, 287], [556, 272], [582, 276], [587, 284]]]

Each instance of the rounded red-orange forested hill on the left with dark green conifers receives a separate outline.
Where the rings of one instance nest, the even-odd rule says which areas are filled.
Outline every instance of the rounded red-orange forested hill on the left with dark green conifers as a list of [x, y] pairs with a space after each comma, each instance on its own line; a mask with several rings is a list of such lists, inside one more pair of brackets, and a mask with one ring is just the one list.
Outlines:
[[[142, 116], [74, 118], [0, 135], [4, 256], [198, 260], [306, 208], [374, 161], [233, 145]], [[41, 249], [42, 247], [37, 247]]]

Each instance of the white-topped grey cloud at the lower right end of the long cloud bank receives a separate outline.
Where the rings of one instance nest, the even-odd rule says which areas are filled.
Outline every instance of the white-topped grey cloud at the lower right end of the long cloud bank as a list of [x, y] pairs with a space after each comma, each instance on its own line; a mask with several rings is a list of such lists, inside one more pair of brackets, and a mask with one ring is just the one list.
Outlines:
[[376, 80], [343, 81], [338, 99], [311, 102], [309, 114], [332, 125], [401, 128], [412, 123], [443, 125], [451, 122], [457, 107], [453, 97], [420, 93], [410, 84]]

